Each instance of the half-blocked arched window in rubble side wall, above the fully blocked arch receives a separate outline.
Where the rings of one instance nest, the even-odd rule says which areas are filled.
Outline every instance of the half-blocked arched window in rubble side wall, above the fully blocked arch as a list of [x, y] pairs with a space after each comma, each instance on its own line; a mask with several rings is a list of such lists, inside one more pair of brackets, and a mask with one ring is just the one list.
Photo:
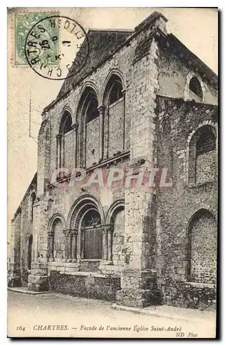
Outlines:
[[198, 129], [189, 144], [189, 183], [203, 183], [215, 179], [215, 130], [212, 126]]

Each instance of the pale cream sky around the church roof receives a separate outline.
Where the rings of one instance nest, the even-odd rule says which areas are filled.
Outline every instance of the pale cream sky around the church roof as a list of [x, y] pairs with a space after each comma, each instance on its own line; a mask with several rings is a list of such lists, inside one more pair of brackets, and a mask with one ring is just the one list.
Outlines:
[[[26, 12], [27, 9], [19, 9]], [[32, 8], [32, 12], [38, 8]], [[43, 11], [43, 8], [41, 8]], [[47, 10], [58, 10], [48, 8]], [[217, 73], [217, 10], [196, 8], [61, 8], [87, 31], [133, 29], [157, 10], [169, 20], [173, 33], [197, 57]], [[29, 9], [31, 11], [31, 9]], [[8, 18], [8, 224], [37, 167], [36, 139], [29, 137], [29, 102], [32, 101], [31, 134], [38, 136], [41, 111], [58, 94], [63, 81], [44, 79], [29, 67], [15, 67], [13, 55], [13, 13]]]

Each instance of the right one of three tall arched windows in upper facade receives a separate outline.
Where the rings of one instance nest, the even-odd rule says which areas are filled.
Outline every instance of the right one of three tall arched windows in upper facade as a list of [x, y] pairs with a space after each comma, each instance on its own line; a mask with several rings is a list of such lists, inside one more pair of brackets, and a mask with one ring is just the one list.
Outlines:
[[[112, 74], [103, 97], [105, 106], [105, 128], [107, 128], [107, 156], [113, 157], [125, 150], [125, 132], [129, 124], [125, 121], [125, 95], [121, 78]], [[127, 133], [128, 135], [128, 133]]]

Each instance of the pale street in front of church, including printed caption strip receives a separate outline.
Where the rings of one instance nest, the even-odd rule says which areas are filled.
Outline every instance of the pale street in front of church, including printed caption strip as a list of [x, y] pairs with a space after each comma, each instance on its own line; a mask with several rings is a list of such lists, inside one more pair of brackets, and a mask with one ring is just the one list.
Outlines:
[[97, 299], [8, 291], [8, 336], [215, 337], [213, 312], [168, 306], [146, 310], [157, 316], [115, 310]]

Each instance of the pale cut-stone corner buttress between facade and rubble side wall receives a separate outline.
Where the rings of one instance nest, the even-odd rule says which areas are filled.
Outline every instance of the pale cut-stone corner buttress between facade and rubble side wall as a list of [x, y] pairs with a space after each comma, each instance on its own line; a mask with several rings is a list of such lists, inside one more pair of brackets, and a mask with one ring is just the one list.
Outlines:
[[[160, 14], [159, 14], [160, 16]], [[149, 26], [149, 32], [151, 28]], [[142, 170], [157, 167], [156, 94], [158, 83], [158, 43], [149, 47], [149, 59], [144, 67], [140, 61], [129, 74], [131, 114], [131, 146], [129, 168]], [[144, 76], [142, 81], [136, 75]], [[138, 92], [144, 83], [145, 89]], [[126, 179], [127, 182], [127, 179]], [[156, 190], [125, 185], [124, 269], [117, 304], [143, 308], [160, 303], [156, 263]]]

